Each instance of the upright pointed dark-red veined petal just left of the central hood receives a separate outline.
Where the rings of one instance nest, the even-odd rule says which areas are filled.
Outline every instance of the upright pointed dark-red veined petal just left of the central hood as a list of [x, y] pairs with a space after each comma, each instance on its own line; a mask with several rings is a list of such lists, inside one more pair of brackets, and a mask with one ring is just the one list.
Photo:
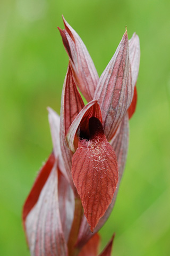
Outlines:
[[74, 187], [71, 175], [71, 162], [73, 154], [67, 145], [66, 133], [74, 118], [78, 115], [83, 107], [84, 103], [74, 83], [72, 70], [69, 63], [63, 85], [61, 100], [60, 145], [67, 177], [69, 177], [72, 187]]

